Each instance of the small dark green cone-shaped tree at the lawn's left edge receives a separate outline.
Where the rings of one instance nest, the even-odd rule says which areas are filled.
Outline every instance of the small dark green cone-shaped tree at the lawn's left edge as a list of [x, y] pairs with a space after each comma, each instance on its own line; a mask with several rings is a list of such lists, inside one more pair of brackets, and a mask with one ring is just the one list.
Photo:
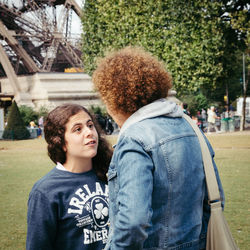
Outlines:
[[3, 138], [23, 140], [29, 137], [30, 133], [24, 125], [16, 102], [13, 101], [8, 114], [8, 123], [3, 132]]

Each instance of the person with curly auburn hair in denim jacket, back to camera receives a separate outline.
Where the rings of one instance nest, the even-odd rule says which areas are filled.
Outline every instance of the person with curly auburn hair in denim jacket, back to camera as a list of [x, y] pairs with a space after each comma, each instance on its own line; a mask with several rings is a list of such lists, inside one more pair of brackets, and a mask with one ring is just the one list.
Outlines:
[[163, 64], [126, 47], [99, 61], [93, 82], [121, 128], [108, 170], [105, 249], [205, 249], [210, 211], [201, 149], [181, 107], [166, 98], [171, 77]]

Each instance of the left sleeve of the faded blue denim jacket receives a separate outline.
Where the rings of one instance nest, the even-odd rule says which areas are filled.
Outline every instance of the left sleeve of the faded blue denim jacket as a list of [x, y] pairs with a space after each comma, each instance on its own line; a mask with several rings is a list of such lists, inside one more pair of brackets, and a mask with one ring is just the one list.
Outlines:
[[153, 162], [140, 142], [130, 138], [123, 138], [116, 150], [118, 213], [110, 249], [139, 250], [148, 237], [146, 229], [152, 217]]

